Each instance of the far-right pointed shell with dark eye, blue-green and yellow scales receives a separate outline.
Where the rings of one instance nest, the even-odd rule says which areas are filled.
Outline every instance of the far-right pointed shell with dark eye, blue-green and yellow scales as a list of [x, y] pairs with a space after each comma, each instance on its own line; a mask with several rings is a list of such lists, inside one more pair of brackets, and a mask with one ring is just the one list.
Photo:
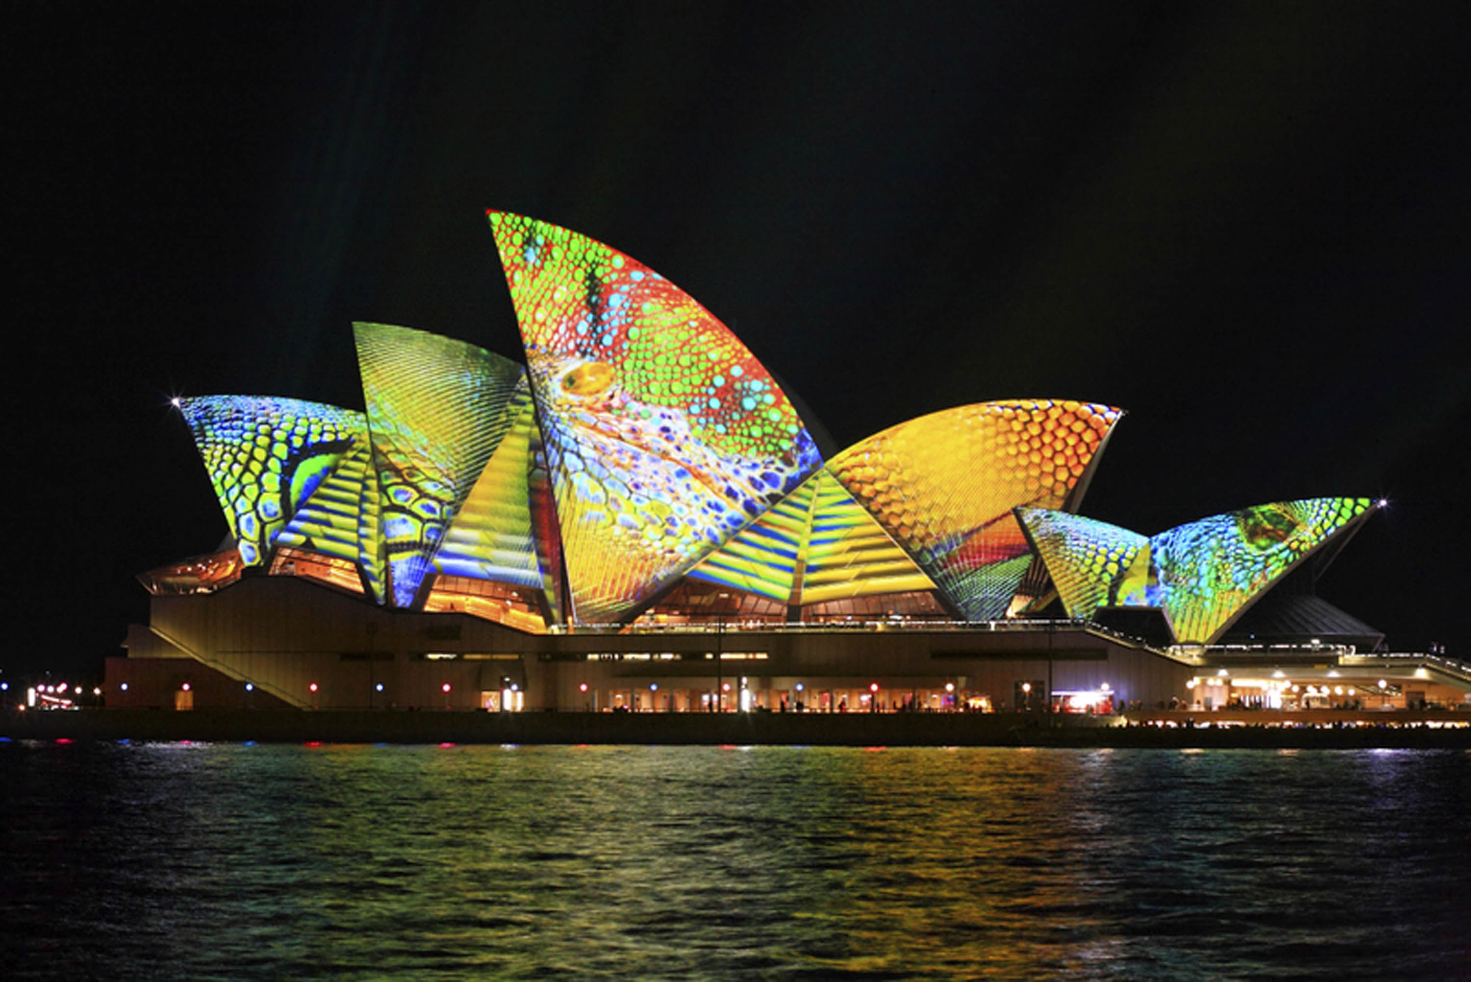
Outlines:
[[1374, 509], [1370, 498], [1305, 498], [1178, 525], [1149, 540], [1143, 603], [1165, 609], [1178, 641], [1211, 644], [1287, 570]]

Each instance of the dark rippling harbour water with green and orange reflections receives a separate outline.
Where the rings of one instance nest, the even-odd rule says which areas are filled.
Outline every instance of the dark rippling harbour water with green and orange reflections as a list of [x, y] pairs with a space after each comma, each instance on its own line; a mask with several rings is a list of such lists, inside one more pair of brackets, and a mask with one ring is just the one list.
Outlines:
[[7, 978], [1471, 978], [1471, 754], [0, 744]]

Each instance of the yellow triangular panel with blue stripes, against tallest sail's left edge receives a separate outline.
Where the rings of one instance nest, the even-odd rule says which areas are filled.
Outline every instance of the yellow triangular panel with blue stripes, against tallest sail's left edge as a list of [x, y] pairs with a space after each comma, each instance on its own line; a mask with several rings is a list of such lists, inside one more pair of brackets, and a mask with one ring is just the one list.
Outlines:
[[435, 572], [541, 589], [531, 526], [531, 434], [535, 413], [522, 381], [509, 409], [516, 420], [491, 454], [434, 556]]

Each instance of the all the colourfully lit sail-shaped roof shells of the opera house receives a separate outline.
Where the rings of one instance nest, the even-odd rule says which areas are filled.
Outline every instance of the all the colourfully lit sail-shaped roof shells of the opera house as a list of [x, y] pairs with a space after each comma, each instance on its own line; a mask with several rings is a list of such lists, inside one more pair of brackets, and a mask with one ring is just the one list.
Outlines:
[[356, 323], [366, 412], [179, 400], [234, 542], [153, 570], [150, 589], [218, 589], [291, 547], [353, 563], [380, 604], [416, 609], [444, 575], [540, 591], [546, 623], [569, 628], [628, 623], [685, 576], [788, 617], [894, 595], [984, 622], [1014, 613], [1028, 569], [1036, 601], [1046, 569], [1072, 617], [1152, 606], [1180, 641], [1212, 642], [1378, 507], [1280, 501], [1152, 538], [1081, 517], [1122, 412], [1065, 400], [930, 413], [824, 463], [772, 375], [688, 294], [585, 235], [488, 219], [527, 365]]

